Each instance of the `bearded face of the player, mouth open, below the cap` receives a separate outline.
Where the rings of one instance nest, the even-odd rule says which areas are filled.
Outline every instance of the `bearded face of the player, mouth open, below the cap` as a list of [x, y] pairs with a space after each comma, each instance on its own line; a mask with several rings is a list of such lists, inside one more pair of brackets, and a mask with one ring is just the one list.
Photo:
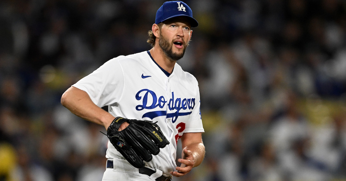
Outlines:
[[190, 24], [180, 18], [165, 22], [161, 27], [158, 44], [171, 61], [177, 61], [184, 56], [191, 38], [190, 28]]

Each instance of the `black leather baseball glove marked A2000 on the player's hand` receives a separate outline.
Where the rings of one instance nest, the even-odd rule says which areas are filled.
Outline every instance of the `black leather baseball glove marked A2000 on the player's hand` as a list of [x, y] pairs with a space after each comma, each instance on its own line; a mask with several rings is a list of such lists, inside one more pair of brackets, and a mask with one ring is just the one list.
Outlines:
[[[120, 125], [127, 121], [129, 125], [118, 131]], [[115, 118], [107, 129], [107, 137], [112, 145], [134, 167], [144, 167], [144, 162], [153, 159], [169, 141], [156, 123], [147, 120]]]

